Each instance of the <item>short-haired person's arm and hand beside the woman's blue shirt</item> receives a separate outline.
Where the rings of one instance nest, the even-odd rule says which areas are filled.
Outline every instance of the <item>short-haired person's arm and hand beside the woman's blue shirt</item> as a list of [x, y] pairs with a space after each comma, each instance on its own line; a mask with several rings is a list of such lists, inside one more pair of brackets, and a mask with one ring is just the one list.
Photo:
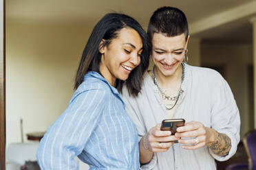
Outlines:
[[[140, 149], [140, 169], [155, 169], [157, 165], [157, 158], [154, 152], [167, 151], [168, 148], [173, 145], [173, 142], [170, 142], [170, 132], [163, 132], [162, 136], [167, 136], [165, 141], [169, 143], [162, 143], [162, 149], [159, 147], [158, 141], [164, 141], [162, 138], [158, 138], [158, 135], [161, 134], [160, 125], [152, 127], [150, 130], [147, 130], [145, 125], [145, 117], [143, 117], [143, 112], [145, 110], [140, 109], [142, 103], [138, 103], [138, 99], [135, 97], [129, 96], [127, 88], [122, 88], [122, 100], [125, 102], [125, 109], [132, 121], [137, 127], [138, 138], [139, 138], [139, 149]], [[158, 130], [156, 130], [158, 129]], [[167, 133], [167, 134], [164, 134]], [[171, 136], [175, 138], [175, 136]]]

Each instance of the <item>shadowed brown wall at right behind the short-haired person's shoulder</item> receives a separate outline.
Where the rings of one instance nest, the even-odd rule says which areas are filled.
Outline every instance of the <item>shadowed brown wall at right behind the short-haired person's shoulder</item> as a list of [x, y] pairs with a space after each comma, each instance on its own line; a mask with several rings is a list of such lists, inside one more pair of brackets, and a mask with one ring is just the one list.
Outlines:
[[241, 137], [249, 130], [248, 64], [253, 64], [251, 45], [204, 44], [201, 46], [202, 65], [226, 65], [226, 80], [231, 86], [241, 117]]

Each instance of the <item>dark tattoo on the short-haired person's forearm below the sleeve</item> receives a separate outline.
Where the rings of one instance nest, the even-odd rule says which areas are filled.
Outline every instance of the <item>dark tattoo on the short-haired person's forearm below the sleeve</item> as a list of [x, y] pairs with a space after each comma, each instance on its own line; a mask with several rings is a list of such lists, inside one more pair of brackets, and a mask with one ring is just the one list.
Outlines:
[[217, 140], [209, 144], [214, 154], [226, 156], [231, 149], [231, 139], [226, 134], [217, 132]]

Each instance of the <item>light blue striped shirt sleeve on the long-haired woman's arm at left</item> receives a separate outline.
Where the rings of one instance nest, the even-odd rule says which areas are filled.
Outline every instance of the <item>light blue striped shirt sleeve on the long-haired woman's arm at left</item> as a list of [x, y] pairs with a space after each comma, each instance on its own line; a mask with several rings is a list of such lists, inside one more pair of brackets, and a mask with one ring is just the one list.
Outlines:
[[100, 87], [74, 95], [41, 140], [37, 152], [41, 169], [78, 169], [75, 157], [96, 128], [106, 100], [107, 92]]

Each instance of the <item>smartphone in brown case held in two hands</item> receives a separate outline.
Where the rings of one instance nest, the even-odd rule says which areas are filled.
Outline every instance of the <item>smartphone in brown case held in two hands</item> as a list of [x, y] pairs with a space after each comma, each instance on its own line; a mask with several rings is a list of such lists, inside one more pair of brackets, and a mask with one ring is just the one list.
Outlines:
[[161, 124], [161, 130], [170, 130], [171, 134], [177, 132], [177, 127], [184, 126], [184, 119], [164, 119]]

